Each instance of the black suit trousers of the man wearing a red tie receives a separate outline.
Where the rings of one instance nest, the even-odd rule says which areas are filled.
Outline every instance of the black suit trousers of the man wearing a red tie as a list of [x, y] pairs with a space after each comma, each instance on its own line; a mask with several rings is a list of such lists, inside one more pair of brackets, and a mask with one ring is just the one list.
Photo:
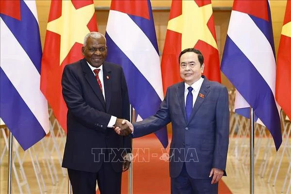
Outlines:
[[121, 194], [121, 172], [115, 172], [106, 161], [97, 173], [68, 169], [73, 194], [96, 194], [96, 181], [100, 194]]

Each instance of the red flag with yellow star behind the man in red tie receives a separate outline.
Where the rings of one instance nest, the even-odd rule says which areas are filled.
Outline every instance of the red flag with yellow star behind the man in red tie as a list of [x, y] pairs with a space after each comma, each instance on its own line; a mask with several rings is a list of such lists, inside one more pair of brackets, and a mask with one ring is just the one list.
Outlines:
[[61, 79], [65, 65], [83, 58], [84, 36], [97, 31], [93, 0], [52, 0], [41, 63], [41, 91], [66, 131]]

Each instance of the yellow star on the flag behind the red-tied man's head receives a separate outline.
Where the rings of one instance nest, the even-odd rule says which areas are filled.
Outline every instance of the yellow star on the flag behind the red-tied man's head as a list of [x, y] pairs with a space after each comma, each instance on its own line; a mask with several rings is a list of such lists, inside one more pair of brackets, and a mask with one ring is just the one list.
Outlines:
[[48, 23], [47, 30], [61, 35], [60, 65], [76, 42], [83, 44], [94, 11], [94, 4], [75, 9], [71, 0], [63, 0], [62, 16]]

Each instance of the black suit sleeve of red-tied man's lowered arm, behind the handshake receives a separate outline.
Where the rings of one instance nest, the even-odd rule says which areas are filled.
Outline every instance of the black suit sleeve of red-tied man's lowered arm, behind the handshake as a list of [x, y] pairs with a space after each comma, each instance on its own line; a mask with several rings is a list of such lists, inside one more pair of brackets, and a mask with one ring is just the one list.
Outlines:
[[[124, 72], [121, 69], [121, 90], [122, 90], [122, 118], [130, 120], [130, 110], [129, 110], [129, 93], [126, 84]], [[124, 148], [126, 148], [127, 153], [131, 153], [131, 136], [124, 136], [123, 143]]]

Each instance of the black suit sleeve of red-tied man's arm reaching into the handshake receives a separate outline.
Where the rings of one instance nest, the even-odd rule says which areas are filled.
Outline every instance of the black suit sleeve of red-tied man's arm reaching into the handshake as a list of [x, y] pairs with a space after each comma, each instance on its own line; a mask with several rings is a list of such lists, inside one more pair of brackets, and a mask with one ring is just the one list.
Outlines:
[[63, 72], [62, 88], [63, 97], [70, 113], [72, 113], [82, 125], [101, 132], [106, 132], [111, 115], [98, 111], [85, 102], [81, 84], [75, 72], [69, 68], [69, 65], [65, 66]]

